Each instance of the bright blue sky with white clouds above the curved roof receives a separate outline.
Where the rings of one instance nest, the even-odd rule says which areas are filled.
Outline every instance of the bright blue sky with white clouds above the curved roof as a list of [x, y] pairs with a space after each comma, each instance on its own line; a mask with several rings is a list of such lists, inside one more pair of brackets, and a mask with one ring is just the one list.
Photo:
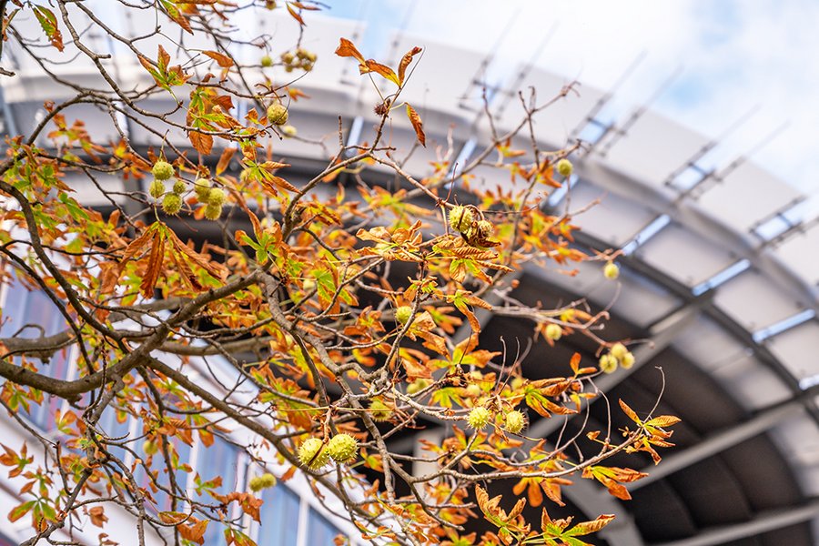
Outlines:
[[814, 0], [334, 0], [329, 5], [329, 15], [367, 22], [363, 46], [369, 51], [387, 51], [396, 28], [477, 51], [488, 51], [502, 36], [495, 63], [502, 70], [528, 61], [551, 33], [535, 64], [604, 90], [640, 57], [609, 116], [646, 103], [662, 88], [653, 110], [723, 142], [706, 163], [720, 167], [750, 155], [805, 193], [819, 194], [819, 2]]

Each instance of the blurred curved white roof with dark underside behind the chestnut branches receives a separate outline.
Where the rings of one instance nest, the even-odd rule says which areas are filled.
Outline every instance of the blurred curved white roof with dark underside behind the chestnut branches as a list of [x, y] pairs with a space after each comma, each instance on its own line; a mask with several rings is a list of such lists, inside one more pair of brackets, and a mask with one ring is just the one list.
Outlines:
[[[278, 15], [266, 17], [257, 24], [286, 34], [287, 25], [278, 25]], [[320, 62], [298, 86], [313, 99], [291, 104], [290, 120], [300, 138], [322, 141], [325, 147], [288, 139], [274, 143], [274, 155], [288, 157], [297, 170], [326, 159], [337, 146], [339, 112], [342, 138], [361, 142], [371, 137], [378, 97], [352, 62], [332, 55], [339, 35], [359, 30], [354, 23], [323, 18], [308, 27], [306, 45], [319, 53]], [[284, 34], [277, 39], [288, 41]], [[451, 139], [460, 162], [468, 160], [490, 135], [480, 107], [486, 59], [407, 35], [396, 35], [395, 43], [399, 52], [411, 45], [426, 48], [406, 95], [425, 120], [428, 146], [413, 150], [411, 127], [396, 116], [388, 128], [397, 148], [394, 156], [412, 150], [407, 169], [423, 176], [436, 153], [445, 149], [439, 146]], [[53, 83], [46, 88], [35, 66], [26, 66], [20, 52], [15, 58], [22, 77], [2, 80], [4, 121], [9, 132], [25, 132], [44, 97], [72, 93]], [[92, 81], [84, 66], [70, 66], [70, 71], [74, 81]], [[131, 86], [146, 83], [138, 66], [118, 66], [117, 77]], [[529, 86], [538, 86], [544, 100], [570, 83], [518, 67], [510, 81], [491, 87], [497, 129], [509, 129], [520, 114], [519, 91], [525, 94]], [[601, 533], [612, 546], [798, 546], [819, 541], [819, 259], [814, 256], [819, 223], [802, 221], [794, 208], [806, 196], [745, 157], [716, 166], [703, 162], [719, 142], [644, 108], [613, 123], [597, 119], [611, 94], [579, 89], [580, 96], [568, 94], [536, 116], [536, 136], [543, 147], [562, 147], [576, 136], [600, 136], [574, 158], [571, 189], [551, 196], [549, 206], [562, 210], [571, 203], [573, 210], [601, 198], [600, 206], [578, 218], [583, 227], [579, 244], [623, 248], [622, 275], [612, 283], [591, 265], [581, 265], [575, 278], [526, 268], [514, 296], [548, 305], [582, 294], [603, 308], [616, 293], [609, 335], [648, 342], [637, 351], [639, 365], [606, 377], [602, 389], [609, 400], [622, 397], [649, 409], [660, 389], [654, 368], [661, 366], [666, 378], [662, 406], [683, 423], [674, 436], [679, 447], [647, 469], [647, 480], [633, 485], [633, 501], [616, 501], [585, 480], [566, 489], [569, 501], [588, 515], [605, 511], [621, 516]], [[83, 107], [69, 107], [66, 116], [83, 117], [89, 132], [99, 134], [95, 113]], [[238, 105], [239, 110], [248, 107]], [[139, 126], [131, 124], [127, 130], [135, 145], [158, 144]], [[172, 138], [187, 146], [184, 135]], [[378, 169], [365, 176], [385, 182]], [[481, 178], [492, 186], [505, 183], [479, 170], [479, 182]], [[81, 198], [106, 204], [91, 185], [83, 188]], [[481, 338], [490, 344], [501, 336], [510, 339], [517, 328], [502, 313], [482, 319], [486, 329]], [[594, 348], [573, 338], [556, 349], [536, 346], [524, 369], [532, 377], [549, 373], [543, 355], [573, 350], [591, 353]], [[591, 418], [607, 420], [603, 399], [591, 403]], [[615, 425], [625, 424], [613, 419]], [[536, 420], [531, 430], [554, 439], [561, 424]], [[408, 450], [414, 440], [404, 440]]]

